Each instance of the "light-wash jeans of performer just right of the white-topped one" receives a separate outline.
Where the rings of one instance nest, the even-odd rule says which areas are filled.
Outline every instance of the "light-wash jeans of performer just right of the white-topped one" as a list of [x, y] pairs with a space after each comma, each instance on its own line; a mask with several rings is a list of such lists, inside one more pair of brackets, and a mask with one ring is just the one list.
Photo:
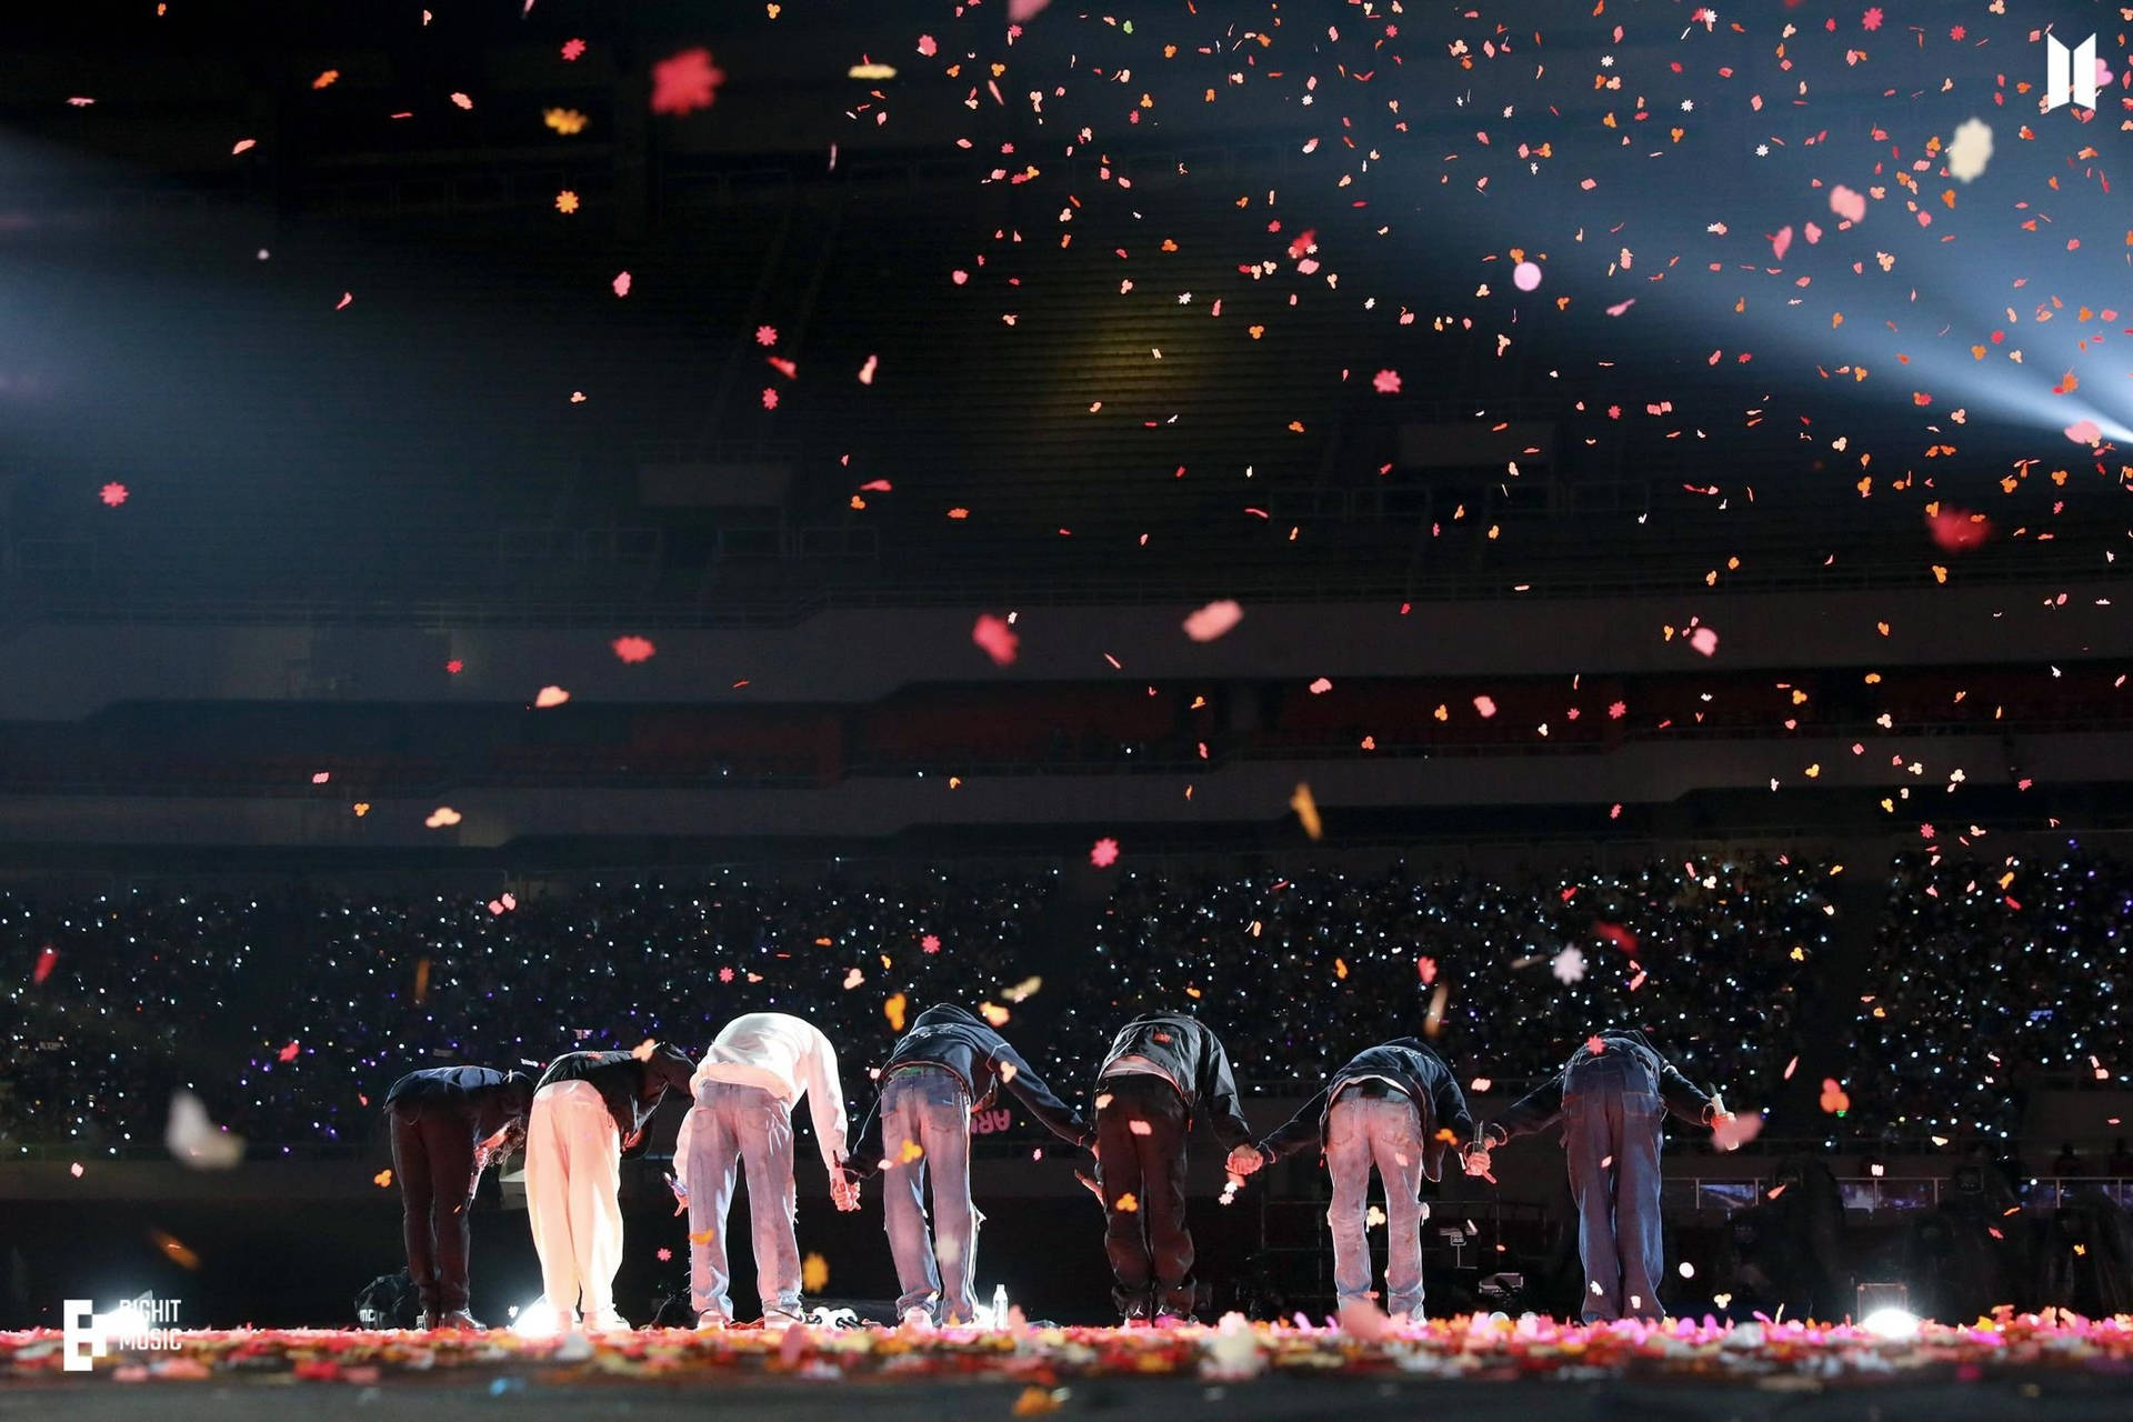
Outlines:
[[[904, 1160], [904, 1145], [924, 1156]], [[928, 1309], [936, 1322], [977, 1318], [977, 1226], [971, 1205], [971, 1092], [945, 1066], [907, 1066], [881, 1087], [881, 1151], [889, 1160], [883, 1224], [896, 1256], [896, 1311]], [[932, 1175], [932, 1232], [926, 1177]]]

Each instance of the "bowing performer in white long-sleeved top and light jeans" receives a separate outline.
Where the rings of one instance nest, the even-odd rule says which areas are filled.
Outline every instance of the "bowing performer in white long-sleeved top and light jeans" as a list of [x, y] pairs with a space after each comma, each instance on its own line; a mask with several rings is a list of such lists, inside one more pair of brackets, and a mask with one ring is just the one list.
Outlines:
[[734, 1322], [725, 1215], [734, 1177], [749, 1170], [755, 1283], [764, 1324], [800, 1320], [800, 1237], [793, 1190], [793, 1104], [806, 1096], [821, 1162], [838, 1209], [860, 1209], [845, 1177], [845, 1092], [836, 1049], [811, 1023], [785, 1013], [749, 1013], [719, 1032], [691, 1079], [695, 1104], [680, 1124], [674, 1162], [689, 1198], [689, 1300], [697, 1328]]

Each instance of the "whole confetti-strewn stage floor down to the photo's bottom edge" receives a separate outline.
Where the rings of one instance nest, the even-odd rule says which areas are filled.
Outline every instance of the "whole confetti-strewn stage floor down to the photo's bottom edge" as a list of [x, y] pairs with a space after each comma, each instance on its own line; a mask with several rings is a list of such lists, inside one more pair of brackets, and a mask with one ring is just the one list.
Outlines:
[[[1382, 1324], [1365, 1322], [1378, 1335]], [[0, 1418], [1738, 1418], [2118, 1422], [2133, 1318], [1854, 1328], [1566, 1328], [1433, 1320], [1331, 1328], [909, 1332], [638, 1330], [602, 1339], [365, 1330], [179, 1332], [169, 1352], [60, 1369], [58, 1332], [0, 1335]]]

